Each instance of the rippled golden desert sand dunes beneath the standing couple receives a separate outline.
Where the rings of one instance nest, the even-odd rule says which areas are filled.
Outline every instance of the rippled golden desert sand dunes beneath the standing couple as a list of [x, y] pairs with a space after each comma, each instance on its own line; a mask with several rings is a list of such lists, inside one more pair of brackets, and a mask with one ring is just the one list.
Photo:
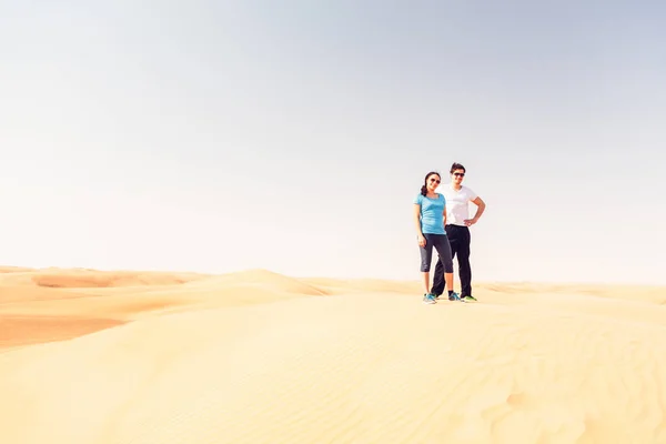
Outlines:
[[420, 293], [2, 268], [0, 443], [666, 443], [666, 289]]

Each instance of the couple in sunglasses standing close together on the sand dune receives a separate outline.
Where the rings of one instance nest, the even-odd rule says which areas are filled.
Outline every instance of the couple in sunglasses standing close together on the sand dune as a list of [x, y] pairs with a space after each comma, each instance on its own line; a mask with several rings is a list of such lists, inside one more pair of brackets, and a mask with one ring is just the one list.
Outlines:
[[[471, 189], [463, 186], [465, 167], [451, 165], [451, 183], [441, 184], [437, 172], [430, 172], [421, 193], [414, 200], [414, 218], [418, 248], [421, 251], [421, 272], [425, 294], [423, 302], [434, 304], [448, 290], [450, 301], [476, 301], [472, 296], [472, 269], [470, 266], [470, 226], [474, 225], [485, 210], [485, 202]], [[470, 202], [476, 204], [474, 218], [468, 215]], [[437, 250], [433, 286], [430, 287], [430, 269], [433, 248]], [[461, 295], [453, 291], [453, 258], [457, 255], [461, 278]], [[444, 270], [442, 270], [444, 269]]]

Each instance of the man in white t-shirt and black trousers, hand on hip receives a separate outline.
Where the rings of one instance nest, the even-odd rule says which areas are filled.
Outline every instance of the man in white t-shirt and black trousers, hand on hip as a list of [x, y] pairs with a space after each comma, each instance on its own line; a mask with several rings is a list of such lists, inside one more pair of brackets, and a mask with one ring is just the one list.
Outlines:
[[[485, 202], [474, 191], [463, 185], [465, 167], [460, 163], [451, 165], [451, 183], [441, 184], [436, 192], [446, 199], [446, 236], [451, 244], [452, 258], [457, 255], [458, 274], [461, 278], [461, 300], [475, 302], [472, 295], [472, 269], [470, 266], [470, 226], [478, 222], [485, 211]], [[470, 219], [470, 202], [476, 204], [476, 213]], [[440, 296], [444, 292], [444, 266], [437, 260], [433, 276], [431, 293]], [[451, 299], [451, 297], [450, 297]], [[453, 300], [453, 299], [451, 299]]]

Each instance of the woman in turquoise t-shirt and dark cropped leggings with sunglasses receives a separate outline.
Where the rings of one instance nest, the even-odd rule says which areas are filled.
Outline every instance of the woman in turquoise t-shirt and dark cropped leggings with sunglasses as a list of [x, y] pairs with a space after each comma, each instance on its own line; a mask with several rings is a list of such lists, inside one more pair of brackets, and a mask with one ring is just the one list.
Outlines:
[[421, 250], [421, 272], [423, 274], [423, 287], [425, 293], [423, 302], [434, 304], [437, 296], [430, 291], [430, 268], [433, 258], [433, 248], [444, 264], [444, 276], [448, 290], [450, 301], [460, 301], [460, 296], [453, 291], [453, 260], [451, 259], [451, 245], [444, 225], [446, 224], [446, 201], [444, 195], [435, 192], [442, 178], [440, 173], [431, 171], [425, 176], [425, 183], [421, 186], [421, 193], [414, 199], [414, 222], [418, 246]]

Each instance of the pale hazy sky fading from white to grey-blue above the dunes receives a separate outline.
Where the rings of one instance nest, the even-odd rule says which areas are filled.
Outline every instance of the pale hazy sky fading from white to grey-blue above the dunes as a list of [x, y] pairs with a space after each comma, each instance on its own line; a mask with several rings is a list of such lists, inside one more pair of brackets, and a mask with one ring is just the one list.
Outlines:
[[455, 161], [474, 281], [666, 283], [665, 21], [0, 0], [0, 264], [417, 280], [413, 200]]

